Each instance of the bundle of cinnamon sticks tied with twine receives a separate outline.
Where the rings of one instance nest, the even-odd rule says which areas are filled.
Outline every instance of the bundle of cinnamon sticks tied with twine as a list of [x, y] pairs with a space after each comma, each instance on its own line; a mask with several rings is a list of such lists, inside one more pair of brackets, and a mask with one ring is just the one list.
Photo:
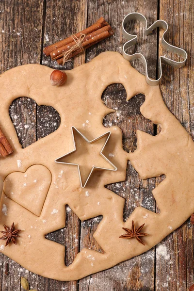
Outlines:
[[67, 60], [111, 35], [112, 27], [100, 17], [92, 26], [46, 47], [43, 52], [46, 56], [50, 55], [52, 60], [57, 60], [58, 64], [64, 65]]

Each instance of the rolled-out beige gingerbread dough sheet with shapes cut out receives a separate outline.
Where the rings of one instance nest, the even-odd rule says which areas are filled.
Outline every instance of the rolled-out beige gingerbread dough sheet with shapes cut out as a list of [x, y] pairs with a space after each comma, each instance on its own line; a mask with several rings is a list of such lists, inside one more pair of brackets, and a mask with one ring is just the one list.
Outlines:
[[[4, 241], [0, 241], [0, 251], [33, 273], [58, 280], [77, 280], [146, 252], [194, 212], [194, 143], [166, 108], [159, 86], [149, 86], [145, 76], [119, 53], [101, 53], [90, 63], [67, 71], [67, 82], [60, 87], [50, 85], [51, 72], [47, 66], [23, 65], [0, 76], [0, 126], [9, 132], [15, 150], [6, 159], [0, 158], [0, 176], [5, 179], [14, 172], [25, 173], [37, 164], [45, 166], [52, 176], [40, 216], [2, 194], [0, 229], [3, 230], [3, 224], [11, 226], [15, 222], [22, 231], [17, 245], [10, 243], [4, 247]], [[72, 165], [55, 163], [55, 159], [73, 150], [72, 126], [88, 140], [107, 132], [102, 119], [113, 110], [102, 103], [101, 95], [112, 83], [124, 85], [127, 100], [144, 94], [141, 113], [160, 124], [162, 131], [151, 136], [138, 130], [137, 150], [127, 153], [123, 150], [121, 130], [111, 127], [104, 154], [113, 153], [111, 162], [118, 170], [94, 174], [82, 189], [78, 171]], [[33, 98], [38, 105], [54, 107], [61, 116], [59, 129], [25, 149], [18, 142], [8, 112], [12, 101], [23, 96]], [[125, 200], [104, 185], [125, 180], [128, 160], [142, 179], [162, 174], [165, 179], [153, 190], [161, 213], [137, 207], [124, 223]], [[27, 206], [28, 197], [25, 197]], [[84, 248], [68, 267], [64, 262], [65, 246], [45, 239], [49, 232], [65, 227], [66, 204], [82, 221], [103, 215], [94, 237], [104, 253]], [[149, 235], [143, 238], [145, 246], [135, 239], [119, 238], [124, 233], [122, 227], [130, 229], [132, 220], [136, 227], [146, 223], [144, 232]]]

